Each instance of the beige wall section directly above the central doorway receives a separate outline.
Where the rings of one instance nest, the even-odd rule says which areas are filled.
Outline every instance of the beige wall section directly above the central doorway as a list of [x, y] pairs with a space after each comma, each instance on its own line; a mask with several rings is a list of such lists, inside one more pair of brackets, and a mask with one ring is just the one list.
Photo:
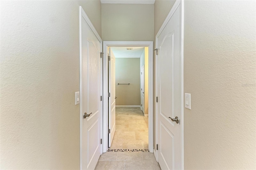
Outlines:
[[154, 40], [154, 4], [102, 4], [101, 8], [102, 40]]

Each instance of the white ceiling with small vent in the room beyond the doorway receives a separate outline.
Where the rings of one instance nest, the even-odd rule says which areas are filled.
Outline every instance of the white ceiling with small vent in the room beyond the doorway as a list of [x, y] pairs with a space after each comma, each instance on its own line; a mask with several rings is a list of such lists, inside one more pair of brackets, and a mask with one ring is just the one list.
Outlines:
[[[126, 50], [132, 48], [132, 50]], [[140, 58], [144, 47], [111, 47], [116, 58]]]

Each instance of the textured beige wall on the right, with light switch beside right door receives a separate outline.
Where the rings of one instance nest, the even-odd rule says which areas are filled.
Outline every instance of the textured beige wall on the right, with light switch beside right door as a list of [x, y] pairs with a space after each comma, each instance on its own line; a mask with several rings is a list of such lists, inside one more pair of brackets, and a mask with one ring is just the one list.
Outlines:
[[184, 4], [184, 168], [256, 169], [255, 1]]

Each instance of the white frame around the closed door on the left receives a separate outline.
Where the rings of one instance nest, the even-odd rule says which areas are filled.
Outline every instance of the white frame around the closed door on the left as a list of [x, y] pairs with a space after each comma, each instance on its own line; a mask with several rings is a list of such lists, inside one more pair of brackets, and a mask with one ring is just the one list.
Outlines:
[[[82, 23], [81, 23], [81, 19], [82, 17], [84, 17], [84, 19], [86, 20], [88, 26], [90, 27], [90, 29], [92, 30], [92, 32], [94, 33], [94, 35], [97, 37], [97, 39], [99, 40], [100, 42], [100, 46], [102, 46], [102, 39], [100, 38], [100, 35], [98, 34], [98, 32], [96, 31], [96, 29], [94, 28], [94, 26], [92, 25], [92, 22], [90, 21], [90, 19], [88, 18], [88, 16], [86, 15], [86, 13], [84, 12], [84, 14], [82, 15], [82, 6], [79, 6], [79, 43], [80, 43], [80, 92], [82, 91], [82, 37], [81, 37], [81, 34], [82, 34]], [[102, 50], [102, 49], [101, 49]], [[101, 70], [101, 73], [102, 73], [102, 60], [100, 61], [100, 70]], [[101, 74], [101, 77], [103, 77], [103, 74]], [[101, 78], [102, 80], [102, 78]], [[100, 94], [102, 96], [103, 94], [103, 83], [102, 81], [100, 82], [101, 84], [101, 88], [100, 88]], [[81, 101], [81, 93], [80, 93], [80, 101]], [[101, 132], [100, 132], [100, 137], [102, 138], [103, 136], [103, 132], [102, 132], [102, 124], [103, 124], [103, 102], [101, 103], [101, 113], [100, 113], [100, 124], [101, 124]], [[82, 169], [82, 121], [83, 121], [83, 118], [82, 118], [82, 115], [84, 113], [82, 112], [82, 103], [80, 103], [80, 169]], [[103, 150], [103, 147], [101, 145], [100, 147], [100, 154], [102, 154], [102, 150]]]

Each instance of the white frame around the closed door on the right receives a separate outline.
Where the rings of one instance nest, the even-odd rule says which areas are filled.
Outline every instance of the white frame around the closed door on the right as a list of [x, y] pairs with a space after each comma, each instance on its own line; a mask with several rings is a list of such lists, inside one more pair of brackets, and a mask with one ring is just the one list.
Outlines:
[[[174, 5], [172, 6], [172, 9], [170, 10], [168, 16], [166, 17], [166, 19], [164, 20], [164, 23], [162, 24], [160, 30], [158, 31], [158, 33], [156, 34], [156, 47], [158, 46], [158, 37], [160, 36], [161, 32], [164, 30], [164, 28], [166, 27], [166, 25], [168, 24], [169, 20], [171, 19], [172, 15], [174, 14], [174, 12], [176, 11], [176, 9], [178, 8], [178, 6], [180, 5], [180, 62], [181, 62], [181, 113], [180, 113], [180, 129], [181, 129], [181, 134], [180, 134], [180, 140], [181, 140], [181, 168], [182, 170], [184, 170], [184, 53], [183, 53], [183, 49], [184, 49], [184, 0], [176, 0]], [[155, 75], [157, 75], [157, 66], [158, 66], [158, 58], [156, 55], [156, 69], [155, 69]], [[157, 76], [155, 77], [155, 87], [157, 87]], [[155, 88], [155, 96], [158, 96], [158, 92], [157, 92], [157, 88]], [[155, 101], [155, 113], [156, 113], [156, 120], [155, 120], [155, 132], [156, 132], [156, 144], [158, 144], [158, 105], [157, 102]], [[156, 160], [158, 161], [158, 152], [156, 152], [156, 148], [154, 148], [154, 155], [156, 157]]]

